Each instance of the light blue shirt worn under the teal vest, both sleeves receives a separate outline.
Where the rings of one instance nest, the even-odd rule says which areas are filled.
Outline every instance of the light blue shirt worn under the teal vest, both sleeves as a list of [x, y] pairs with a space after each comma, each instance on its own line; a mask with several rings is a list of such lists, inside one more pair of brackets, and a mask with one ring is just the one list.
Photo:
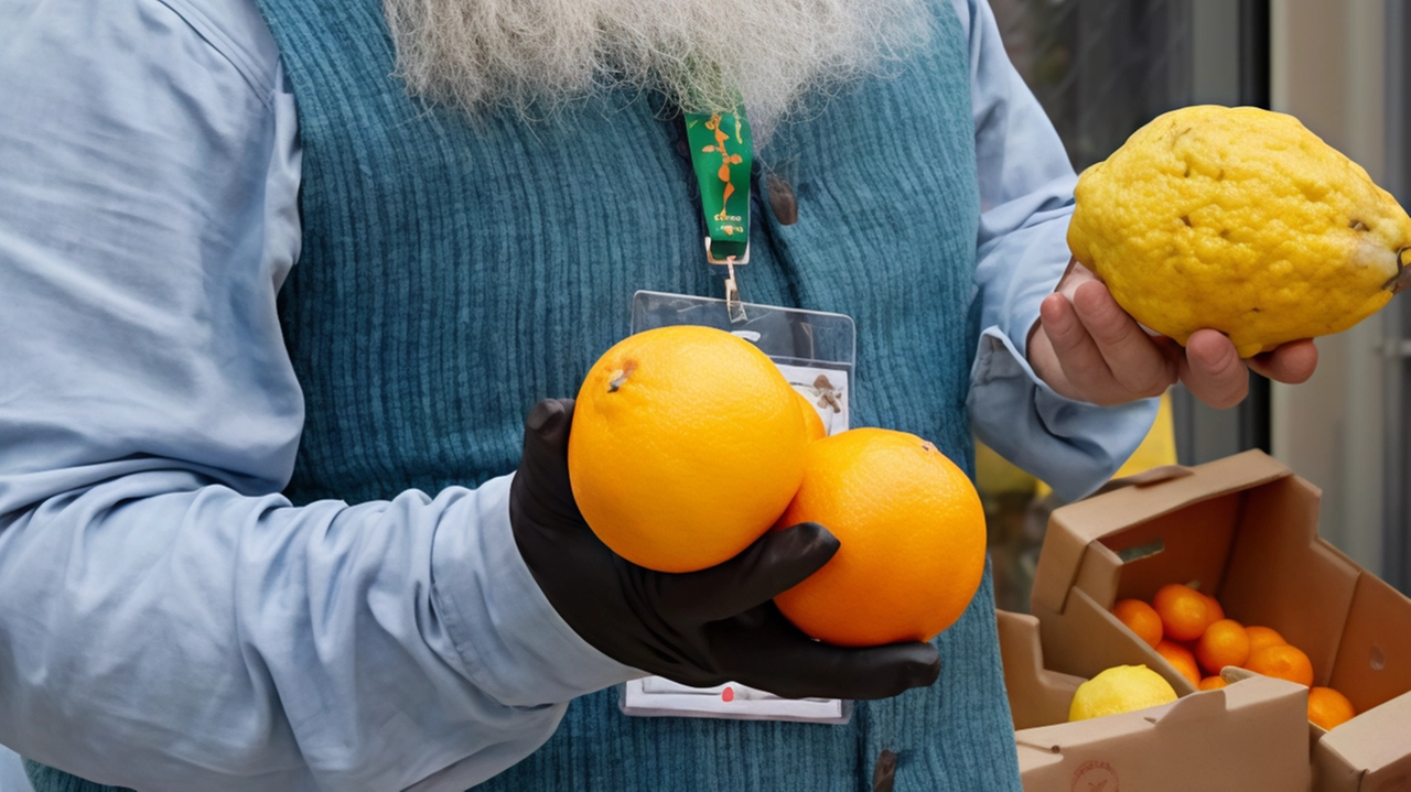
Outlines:
[[[976, 433], [1070, 497], [1154, 404], [1024, 362], [1074, 173], [982, 0]], [[461, 791], [635, 676], [515, 550], [509, 476], [292, 507], [299, 145], [248, 0], [0, 0], [0, 743], [161, 789]]]

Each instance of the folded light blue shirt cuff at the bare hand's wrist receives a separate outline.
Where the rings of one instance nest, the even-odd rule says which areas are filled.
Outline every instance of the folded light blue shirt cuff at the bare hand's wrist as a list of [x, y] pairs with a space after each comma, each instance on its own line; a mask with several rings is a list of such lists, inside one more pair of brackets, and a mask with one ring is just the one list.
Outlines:
[[1132, 457], [1157, 404], [1141, 399], [1099, 407], [1060, 396], [999, 327], [981, 334], [965, 403], [982, 443], [1068, 502], [1091, 495]]

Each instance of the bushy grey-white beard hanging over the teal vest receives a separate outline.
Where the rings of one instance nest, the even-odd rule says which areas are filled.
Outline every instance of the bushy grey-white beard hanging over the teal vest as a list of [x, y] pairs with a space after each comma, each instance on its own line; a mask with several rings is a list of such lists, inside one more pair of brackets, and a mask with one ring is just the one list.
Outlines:
[[934, 0], [384, 0], [413, 96], [526, 120], [602, 89], [690, 111], [744, 97], [761, 144], [810, 94], [880, 72], [933, 34]]

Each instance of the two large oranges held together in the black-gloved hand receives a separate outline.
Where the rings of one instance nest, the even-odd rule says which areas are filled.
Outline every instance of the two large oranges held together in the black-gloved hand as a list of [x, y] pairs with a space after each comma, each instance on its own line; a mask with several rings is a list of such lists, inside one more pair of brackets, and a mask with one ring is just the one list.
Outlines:
[[790, 621], [837, 645], [935, 637], [985, 571], [979, 495], [914, 434], [824, 434], [753, 344], [707, 327], [648, 330], [588, 371], [569, 478], [598, 538], [662, 572], [714, 567], [772, 528], [820, 523], [841, 548], [775, 598]]

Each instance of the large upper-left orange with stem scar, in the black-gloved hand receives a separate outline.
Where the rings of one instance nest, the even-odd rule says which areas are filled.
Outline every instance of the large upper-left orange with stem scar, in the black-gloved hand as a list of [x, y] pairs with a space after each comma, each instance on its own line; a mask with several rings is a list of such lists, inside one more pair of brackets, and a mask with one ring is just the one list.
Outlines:
[[803, 481], [801, 402], [748, 341], [663, 327], [602, 354], [569, 434], [573, 497], [628, 561], [690, 572], [765, 534]]

